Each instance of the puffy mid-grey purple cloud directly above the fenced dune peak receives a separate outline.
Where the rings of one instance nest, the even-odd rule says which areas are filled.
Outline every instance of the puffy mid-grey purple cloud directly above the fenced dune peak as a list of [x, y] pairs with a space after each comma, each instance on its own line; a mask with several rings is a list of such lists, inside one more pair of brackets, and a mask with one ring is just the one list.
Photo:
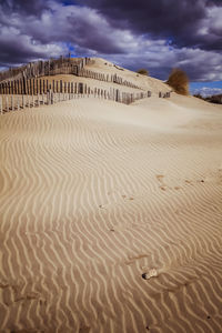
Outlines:
[[[20, 24], [20, 30], [30, 33], [42, 43], [68, 42], [102, 53], [121, 53], [123, 50], [111, 33], [107, 21], [94, 10], [77, 6], [52, 4], [41, 19]], [[34, 24], [33, 24], [34, 23]]]

